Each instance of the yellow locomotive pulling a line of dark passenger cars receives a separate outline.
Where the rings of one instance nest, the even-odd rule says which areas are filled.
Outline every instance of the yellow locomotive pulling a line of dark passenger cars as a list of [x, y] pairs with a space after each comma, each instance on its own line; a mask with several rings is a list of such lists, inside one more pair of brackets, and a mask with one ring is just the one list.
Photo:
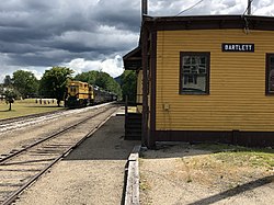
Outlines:
[[117, 95], [88, 82], [69, 81], [65, 93], [65, 107], [77, 109], [116, 101]]

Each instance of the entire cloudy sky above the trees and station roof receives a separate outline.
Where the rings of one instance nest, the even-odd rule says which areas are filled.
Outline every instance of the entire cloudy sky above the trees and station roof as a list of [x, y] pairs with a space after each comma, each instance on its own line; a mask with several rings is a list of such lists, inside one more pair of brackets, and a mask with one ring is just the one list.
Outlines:
[[[53, 66], [80, 73], [123, 72], [138, 44], [141, 0], [2, 0], [0, 82], [23, 69], [39, 79]], [[149, 15], [176, 15], [199, 0], [148, 0]], [[242, 14], [248, 0], [204, 0], [181, 15]], [[253, 0], [254, 15], [274, 14], [274, 0]]]

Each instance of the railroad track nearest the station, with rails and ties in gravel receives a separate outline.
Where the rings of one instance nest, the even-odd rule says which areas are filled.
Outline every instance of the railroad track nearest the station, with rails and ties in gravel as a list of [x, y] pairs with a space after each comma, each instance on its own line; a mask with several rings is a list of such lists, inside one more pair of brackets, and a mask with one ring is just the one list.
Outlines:
[[[101, 107], [81, 122], [35, 141], [0, 159], [0, 204], [11, 204], [18, 195], [101, 127], [117, 106]], [[87, 130], [87, 127], [90, 127]]]

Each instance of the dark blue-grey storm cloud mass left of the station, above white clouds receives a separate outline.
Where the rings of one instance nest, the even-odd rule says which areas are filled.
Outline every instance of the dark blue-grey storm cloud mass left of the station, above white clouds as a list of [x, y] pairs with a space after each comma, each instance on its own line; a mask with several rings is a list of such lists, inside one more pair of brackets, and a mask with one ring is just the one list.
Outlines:
[[[137, 37], [137, 34], [133, 36], [130, 29], [138, 32], [139, 25], [132, 11], [136, 10], [137, 14], [138, 8], [123, 14], [124, 11], [119, 12], [116, 7], [112, 10], [112, 3], [96, 3], [94, 0], [1, 2], [0, 53], [7, 55], [12, 66], [50, 66], [75, 58], [94, 60], [99, 56], [128, 50], [134, 45], [130, 41]], [[125, 8], [125, 3], [122, 1], [119, 5]], [[130, 18], [124, 18], [126, 13]], [[123, 19], [126, 19], [125, 23]], [[106, 30], [102, 30], [102, 25]], [[115, 33], [124, 34], [124, 37]]]

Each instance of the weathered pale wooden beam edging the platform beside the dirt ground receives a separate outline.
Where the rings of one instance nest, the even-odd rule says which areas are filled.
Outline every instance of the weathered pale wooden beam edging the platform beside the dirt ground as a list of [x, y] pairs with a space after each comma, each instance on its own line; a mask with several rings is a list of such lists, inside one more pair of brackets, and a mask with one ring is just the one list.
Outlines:
[[126, 176], [126, 189], [125, 189], [125, 201], [124, 205], [139, 205], [139, 151], [141, 146], [135, 146], [132, 153], [127, 159], [127, 166], [125, 172]]

